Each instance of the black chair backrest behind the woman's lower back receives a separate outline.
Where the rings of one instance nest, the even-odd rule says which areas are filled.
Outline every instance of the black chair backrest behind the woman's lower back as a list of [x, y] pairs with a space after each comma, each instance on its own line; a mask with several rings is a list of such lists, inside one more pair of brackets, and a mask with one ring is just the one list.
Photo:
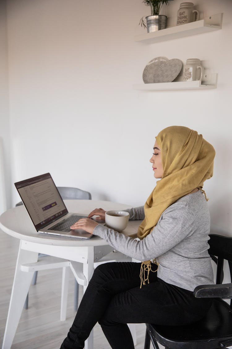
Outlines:
[[[226, 237], [216, 234], [210, 234], [209, 237], [209, 254], [212, 257], [212, 259], [217, 263], [216, 284], [222, 284], [223, 282], [224, 260], [228, 261], [230, 268], [230, 278], [232, 282], [232, 237]], [[215, 257], [217, 257], [216, 260]], [[232, 299], [230, 306], [232, 307]]]

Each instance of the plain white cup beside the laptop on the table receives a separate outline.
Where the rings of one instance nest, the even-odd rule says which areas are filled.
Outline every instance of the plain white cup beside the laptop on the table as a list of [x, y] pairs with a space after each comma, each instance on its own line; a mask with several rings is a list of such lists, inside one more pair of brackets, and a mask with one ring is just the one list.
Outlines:
[[129, 216], [129, 213], [126, 211], [107, 211], [105, 213], [106, 226], [120, 232], [126, 229]]

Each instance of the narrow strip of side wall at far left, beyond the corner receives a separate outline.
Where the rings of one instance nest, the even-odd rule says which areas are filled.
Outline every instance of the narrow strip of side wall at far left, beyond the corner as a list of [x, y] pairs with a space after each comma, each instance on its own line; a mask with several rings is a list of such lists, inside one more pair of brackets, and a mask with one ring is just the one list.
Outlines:
[[10, 131], [6, 1], [0, 1], [0, 214], [10, 207]]

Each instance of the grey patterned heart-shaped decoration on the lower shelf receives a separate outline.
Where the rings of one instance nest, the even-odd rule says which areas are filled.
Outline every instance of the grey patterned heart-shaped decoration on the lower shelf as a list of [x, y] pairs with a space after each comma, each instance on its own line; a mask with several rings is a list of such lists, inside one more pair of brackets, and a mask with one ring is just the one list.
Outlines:
[[156, 57], [152, 59], [143, 70], [145, 84], [157, 82], [171, 82], [176, 79], [181, 71], [182, 61], [177, 58]]

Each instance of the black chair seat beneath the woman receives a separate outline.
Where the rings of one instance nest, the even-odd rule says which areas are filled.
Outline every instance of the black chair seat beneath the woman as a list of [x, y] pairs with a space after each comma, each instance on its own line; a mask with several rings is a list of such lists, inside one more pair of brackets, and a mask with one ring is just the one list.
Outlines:
[[[191, 325], [146, 324], [152, 339], [171, 349], [216, 349], [232, 345], [232, 311], [221, 299], [213, 299], [206, 317]], [[220, 343], [230, 341], [225, 346]], [[200, 344], [199, 344], [200, 343]]]

